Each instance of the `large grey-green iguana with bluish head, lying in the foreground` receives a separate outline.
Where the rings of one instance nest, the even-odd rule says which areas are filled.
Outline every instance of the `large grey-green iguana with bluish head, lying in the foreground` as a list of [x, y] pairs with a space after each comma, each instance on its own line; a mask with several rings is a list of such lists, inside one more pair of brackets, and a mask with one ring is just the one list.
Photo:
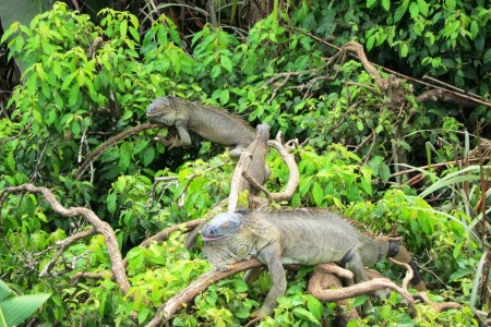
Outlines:
[[407, 263], [414, 270], [411, 283], [426, 290], [407, 250], [386, 237], [359, 231], [348, 220], [323, 209], [235, 211], [215, 216], [202, 230], [203, 252], [218, 269], [256, 257], [267, 266], [273, 286], [255, 317], [271, 315], [276, 298], [285, 294], [284, 264], [338, 263], [354, 272], [355, 282], [367, 280], [366, 266], [384, 257]]

